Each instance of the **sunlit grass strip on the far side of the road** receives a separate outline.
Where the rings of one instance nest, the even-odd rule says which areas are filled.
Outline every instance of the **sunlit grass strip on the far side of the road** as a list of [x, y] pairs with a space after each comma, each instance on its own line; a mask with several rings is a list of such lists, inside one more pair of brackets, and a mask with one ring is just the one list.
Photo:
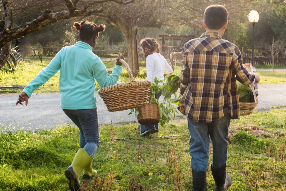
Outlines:
[[[5, 67], [0, 69], [0, 86], [11, 86], [11, 85], [27, 85], [52, 59], [52, 57], [43, 58], [43, 63], [40, 63], [37, 58], [30, 58], [35, 66], [26, 65], [26, 69], [10, 72], [7, 71]], [[128, 60], [127, 60], [128, 62]], [[113, 68], [114, 62], [103, 61], [106, 68]], [[139, 62], [140, 72], [135, 77], [136, 80], [146, 79], [146, 73], [143, 72], [146, 69], [144, 61]], [[181, 64], [177, 64], [174, 70], [174, 74], [180, 74]], [[257, 68], [257, 67], [256, 67]], [[282, 71], [257, 71], [260, 76], [260, 83], [286, 83], [286, 72]], [[119, 80], [121, 82], [129, 82], [127, 71], [124, 69]], [[46, 93], [46, 92], [58, 92], [59, 91], [59, 72], [54, 75], [50, 80], [48, 80], [43, 86], [40, 87], [41, 90], [36, 90], [35, 93]], [[96, 89], [100, 87], [96, 83]]]

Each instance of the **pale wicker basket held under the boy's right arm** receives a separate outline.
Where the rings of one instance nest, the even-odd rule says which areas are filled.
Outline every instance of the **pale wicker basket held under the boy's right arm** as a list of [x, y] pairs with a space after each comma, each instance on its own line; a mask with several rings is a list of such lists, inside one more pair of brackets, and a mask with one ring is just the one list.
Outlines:
[[[255, 72], [255, 68], [253, 68], [251, 64], [246, 63], [246, 64], [243, 64], [243, 66], [248, 71]], [[240, 116], [250, 115], [254, 111], [254, 109], [256, 108], [256, 106], [258, 104], [258, 99], [257, 99], [257, 96], [256, 96], [256, 95], [258, 95], [258, 89], [256, 88], [257, 87], [256, 84], [257, 83], [254, 82], [254, 83], [249, 85], [249, 87], [252, 90], [253, 96], [254, 96], [254, 102], [253, 103], [242, 103], [242, 102], [239, 102], [239, 113], [240, 113]], [[256, 91], [257, 91], [257, 93], [256, 93]]]

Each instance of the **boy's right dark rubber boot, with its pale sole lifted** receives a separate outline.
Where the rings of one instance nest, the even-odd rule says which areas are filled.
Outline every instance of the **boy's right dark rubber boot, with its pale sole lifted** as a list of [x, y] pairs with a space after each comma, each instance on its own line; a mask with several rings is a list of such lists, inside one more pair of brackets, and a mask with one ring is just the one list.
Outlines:
[[226, 173], [226, 163], [219, 169], [213, 169], [213, 164], [211, 165], [211, 170], [213, 174], [213, 179], [215, 180], [215, 190], [216, 191], [226, 191], [231, 186], [231, 177]]

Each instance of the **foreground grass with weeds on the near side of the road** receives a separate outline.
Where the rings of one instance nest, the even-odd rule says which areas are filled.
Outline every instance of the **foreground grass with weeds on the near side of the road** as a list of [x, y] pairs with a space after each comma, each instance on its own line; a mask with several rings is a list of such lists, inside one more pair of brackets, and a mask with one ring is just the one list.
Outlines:
[[[272, 109], [231, 121], [229, 190], [286, 190], [285, 116], [285, 109]], [[186, 120], [140, 139], [137, 124], [118, 125], [100, 126], [101, 145], [93, 157], [98, 176], [80, 179], [82, 190], [191, 190], [189, 136], [163, 137], [189, 134]], [[0, 190], [68, 190], [64, 171], [79, 148], [78, 129], [66, 124], [34, 133], [10, 127], [12, 133], [7, 128], [0, 133]], [[124, 137], [132, 139], [116, 140]], [[207, 190], [214, 190], [210, 168]]]

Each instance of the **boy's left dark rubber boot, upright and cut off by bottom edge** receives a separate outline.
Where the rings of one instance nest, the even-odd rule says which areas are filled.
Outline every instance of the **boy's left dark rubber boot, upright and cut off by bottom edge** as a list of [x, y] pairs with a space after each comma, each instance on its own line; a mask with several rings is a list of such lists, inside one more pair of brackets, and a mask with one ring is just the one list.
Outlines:
[[206, 172], [205, 171], [194, 171], [193, 172], [193, 191], [206, 191]]

